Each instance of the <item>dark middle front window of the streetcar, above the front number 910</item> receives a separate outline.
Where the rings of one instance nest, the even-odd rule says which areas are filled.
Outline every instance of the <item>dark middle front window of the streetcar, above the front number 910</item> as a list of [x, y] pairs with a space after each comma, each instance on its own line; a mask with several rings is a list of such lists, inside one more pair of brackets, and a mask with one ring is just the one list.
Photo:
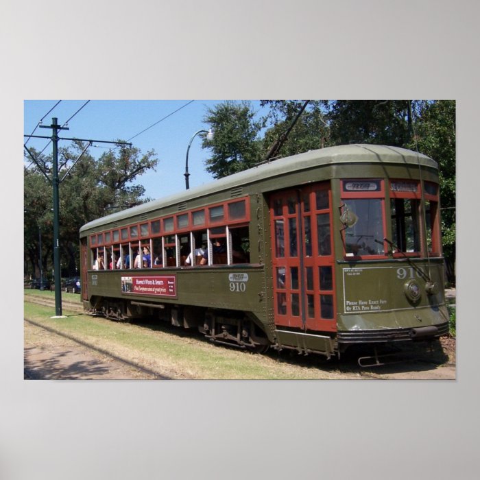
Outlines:
[[420, 203], [408, 198], [390, 200], [392, 241], [400, 252], [420, 252]]

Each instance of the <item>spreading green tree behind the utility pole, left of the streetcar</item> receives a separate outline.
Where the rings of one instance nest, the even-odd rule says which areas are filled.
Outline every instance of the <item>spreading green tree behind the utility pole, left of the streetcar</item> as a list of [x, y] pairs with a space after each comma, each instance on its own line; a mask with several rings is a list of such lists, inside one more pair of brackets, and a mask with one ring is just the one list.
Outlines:
[[[59, 149], [59, 176], [65, 176], [72, 160], [82, 152], [83, 145], [74, 143]], [[51, 177], [51, 158], [32, 152]], [[112, 149], [95, 160], [85, 153], [62, 180], [59, 189], [60, 252], [64, 269], [73, 274], [78, 265], [78, 230], [88, 221], [109, 213], [141, 204], [145, 189], [134, 181], [156, 167], [155, 152], [141, 156], [137, 148]], [[24, 169], [25, 232], [24, 245], [28, 270], [38, 265], [38, 227], [42, 231], [43, 270], [51, 265], [53, 252], [53, 212], [51, 183], [40, 173], [38, 165]]]

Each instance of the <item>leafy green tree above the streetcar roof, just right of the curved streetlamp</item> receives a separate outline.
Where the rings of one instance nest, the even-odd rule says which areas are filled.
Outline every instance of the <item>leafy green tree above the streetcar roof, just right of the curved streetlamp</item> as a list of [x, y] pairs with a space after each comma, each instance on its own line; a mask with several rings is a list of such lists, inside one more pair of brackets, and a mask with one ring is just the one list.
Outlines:
[[251, 168], [261, 160], [259, 132], [263, 123], [255, 121], [254, 115], [247, 101], [226, 101], [208, 108], [204, 122], [210, 123], [215, 135], [212, 141], [204, 139], [202, 145], [211, 148], [206, 169], [214, 178]]

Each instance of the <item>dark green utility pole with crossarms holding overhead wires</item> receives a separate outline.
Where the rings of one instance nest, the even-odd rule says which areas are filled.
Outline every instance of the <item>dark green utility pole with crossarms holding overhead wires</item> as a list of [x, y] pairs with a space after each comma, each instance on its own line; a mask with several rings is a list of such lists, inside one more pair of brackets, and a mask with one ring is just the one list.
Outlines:
[[[51, 119], [51, 125], [40, 125], [40, 128], [51, 128], [52, 134], [50, 136], [39, 136], [39, 135], [25, 135], [28, 137], [36, 138], [36, 139], [50, 139], [51, 143], [53, 145], [53, 158], [52, 158], [52, 164], [53, 164], [53, 175], [51, 180], [43, 171], [42, 167], [38, 164], [37, 159], [35, 156], [32, 154], [32, 152], [29, 151], [27, 146], [24, 144], [23, 147], [25, 147], [25, 150], [27, 150], [29, 156], [32, 157], [34, 160], [34, 163], [37, 165], [37, 167], [40, 169], [40, 171], [43, 173], [43, 175], [51, 182], [52, 187], [53, 187], [53, 278], [55, 282], [55, 315], [56, 317], [62, 317], [62, 271], [60, 267], [60, 202], [59, 202], [59, 195], [58, 195], [58, 186], [61, 182], [58, 178], [58, 141], [59, 140], [77, 140], [77, 141], [86, 141], [88, 142], [88, 145], [84, 148], [83, 152], [77, 157], [69, 171], [73, 168], [75, 163], [77, 163], [78, 160], [82, 157], [82, 155], [86, 152], [86, 149], [92, 145], [93, 142], [95, 143], [115, 143], [117, 145], [130, 145], [132, 147], [132, 143], [126, 143], [126, 142], [111, 142], [111, 141], [104, 141], [104, 140], [85, 140], [85, 139], [64, 139], [60, 138], [58, 136], [58, 130], [69, 130], [67, 127], [61, 127], [58, 125], [57, 119], [53, 117]], [[62, 180], [68, 175], [69, 171], [64, 175]]]

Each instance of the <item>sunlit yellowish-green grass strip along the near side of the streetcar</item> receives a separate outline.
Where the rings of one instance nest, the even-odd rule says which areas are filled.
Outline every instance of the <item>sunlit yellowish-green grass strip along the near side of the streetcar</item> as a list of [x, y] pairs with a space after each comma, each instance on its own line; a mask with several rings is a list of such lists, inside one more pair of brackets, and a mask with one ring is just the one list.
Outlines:
[[[49, 296], [53, 292], [39, 292]], [[73, 295], [65, 294], [67, 295]], [[63, 296], [62, 296], [63, 297]], [[78, 295], [75, 295], [78, 298]], [[149, 370], [180, 379], [322, 379], [317, 368], [291, 365], [272, 357], [223, 348], [203, 339], [169, 333], [158, 324], [112, 322], [63, 309], [67, 318], [51, 318], [53, 309], [25, 302], [25, 318], [54, 328]]]

